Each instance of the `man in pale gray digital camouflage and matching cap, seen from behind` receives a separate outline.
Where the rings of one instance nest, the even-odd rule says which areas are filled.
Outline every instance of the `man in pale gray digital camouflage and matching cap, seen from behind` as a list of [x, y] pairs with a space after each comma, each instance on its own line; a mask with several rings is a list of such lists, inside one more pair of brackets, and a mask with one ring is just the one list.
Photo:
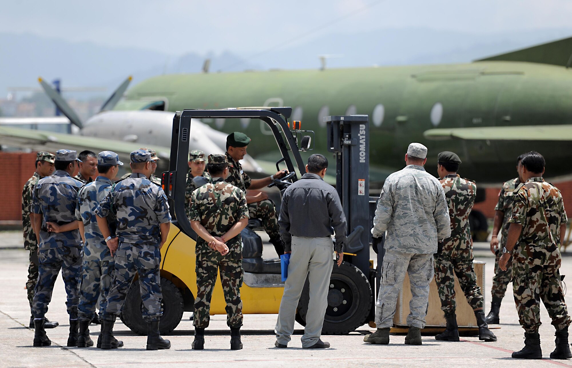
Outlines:
[[395, 306], [405, 274], [411, 283], [409, 332], [405, 343], [421, 345], [421, 331], [433, 278], [433, 254], [438, 242], [451, 235], [447, 202], [441, 183], [427, 173], [427, 147], [411, 143], [405, 155], [407, 166], [391, 174], [383, 185], [375, 211], [371, 234], [381, 237], [387, 230], [382, 280], [376, 302], [375, 333], [364, 342], [386, 345], [390, 342]]

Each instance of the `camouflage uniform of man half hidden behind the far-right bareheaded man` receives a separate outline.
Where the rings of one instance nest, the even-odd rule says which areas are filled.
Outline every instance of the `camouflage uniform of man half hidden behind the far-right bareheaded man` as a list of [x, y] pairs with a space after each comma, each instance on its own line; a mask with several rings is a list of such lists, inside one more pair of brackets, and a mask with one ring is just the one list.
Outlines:
[[493, 302], [500, 302], [505, 297], [506, 288], [513, 278], [512, 259], [509, 259], [509, 262], [507, 262], [506, 271], [501, 270], [501, 267], [499, 267], [499, 259], [501, 259], [503, 247], [506, 246], [506, 235], [509, 233], [509, 220], [513, 210], [513, 192], [520, 183], [521, 181], [518, 178], [504, 182], [499, 192], [499, 201], [495, 206], [495, 211], [503, 211], [505, 217], [502, 220], [499, 249], [496, 251], [495, 276], [492, 278], [491, 295]]

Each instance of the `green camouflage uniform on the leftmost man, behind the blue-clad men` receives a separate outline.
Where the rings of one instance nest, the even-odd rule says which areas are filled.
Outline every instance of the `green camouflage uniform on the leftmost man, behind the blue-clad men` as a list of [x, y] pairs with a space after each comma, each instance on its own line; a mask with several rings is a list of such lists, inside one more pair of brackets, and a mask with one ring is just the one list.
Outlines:
[[40, 179], [38, 173], [34, 173], [30, 179], [24, 184], [22, 190], [22, 228], [24, 233], [24, 249], [30, 251], [28, 266], [28, 281], [26, 281], [26, 290], [28, 293], [28, 302], [30, 307], [34, 299], [34, 287], [38, 279], [38, 242], [35, 238], [34, 230], [30, 220], [30, 210], [32, 199], [34, 198], [34, 187]]

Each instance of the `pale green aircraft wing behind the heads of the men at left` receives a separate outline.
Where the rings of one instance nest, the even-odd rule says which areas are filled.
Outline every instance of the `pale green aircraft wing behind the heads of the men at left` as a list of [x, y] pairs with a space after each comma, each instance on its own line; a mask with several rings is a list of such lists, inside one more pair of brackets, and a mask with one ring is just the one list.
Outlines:
[[[29, 148], [34, 151], [55, 152], [61, 149], [71, 149], [78, 152], [91, 150], [96, 153], [101, 151], [114, 151], [123, 162], [129, 162], [129, 154], [140, 149], [142, 143], [114, 141], [85, 137], [83, 135], [52, 133], [51, 131], [30, 130], [14, 127], [0, 126], [0, 144]], [[170, 147], [158, 147], [153, 145], [159, 158], [169, 159]]]

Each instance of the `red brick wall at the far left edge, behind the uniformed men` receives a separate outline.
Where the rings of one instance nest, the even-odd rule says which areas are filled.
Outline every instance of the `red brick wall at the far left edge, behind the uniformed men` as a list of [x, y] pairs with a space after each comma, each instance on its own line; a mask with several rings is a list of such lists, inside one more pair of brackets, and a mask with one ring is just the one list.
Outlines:
[[34, 175], [36, 153], [0, 151], [0, 221], [21, 221], [22, 188]]

